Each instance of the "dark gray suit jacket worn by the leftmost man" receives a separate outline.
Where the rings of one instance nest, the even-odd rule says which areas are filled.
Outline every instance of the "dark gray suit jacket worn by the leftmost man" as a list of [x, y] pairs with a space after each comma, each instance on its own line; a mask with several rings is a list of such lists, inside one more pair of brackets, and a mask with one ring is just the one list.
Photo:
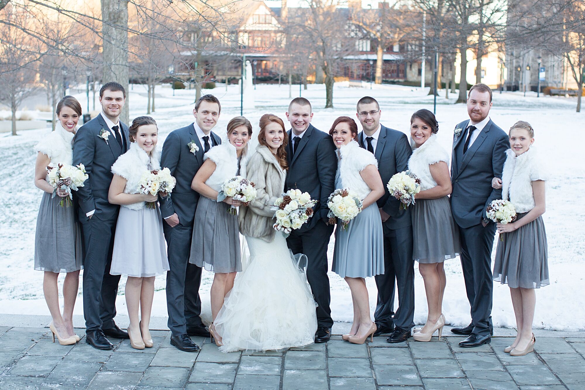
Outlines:
[[[129, 147], [128, 126], [122, 121], [119, 123], [122, 126], [121, 132], [125, 145]], [[123, 154], [123, 151], [111, 134], [108, 143], [99, 137], [102, 129], [109, 130], [102, 114], [99, 113], [77, 130], [73, 143], [73, 164], [85, 165], [85, 171], [88, 174], [88, 180], [85, 181], [84, 187], [80, 187], [77, 191], [80, 214], [85, 215], [91, 210], [95, 210], [94, 215], [97, 218], [107, 220], [120, 208], [120, 206], [108, 202], [108, 191], [113, 178], [112, 165]]]

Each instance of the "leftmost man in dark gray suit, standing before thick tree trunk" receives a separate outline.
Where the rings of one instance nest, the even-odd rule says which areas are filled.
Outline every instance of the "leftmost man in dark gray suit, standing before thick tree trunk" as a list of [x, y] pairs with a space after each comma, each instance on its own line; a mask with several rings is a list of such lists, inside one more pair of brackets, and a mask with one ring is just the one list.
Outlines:
[[128, 339], [113, 320], [120, 275], [110, 275], [113, 237], [120, 206], [108, 202], [112, 164], [128, 150], [128, 126], [119, 120], [126, 91], [117, 82], [106, 82], [99, 89], [102, 112], [85, 123], [75, 134], [73, 164], [84, 164], [89, 179], [77, 191], [79, 219], [83, 228], [83, 312], [86, 340], [94, 348], [109, 350], [106, 339]]

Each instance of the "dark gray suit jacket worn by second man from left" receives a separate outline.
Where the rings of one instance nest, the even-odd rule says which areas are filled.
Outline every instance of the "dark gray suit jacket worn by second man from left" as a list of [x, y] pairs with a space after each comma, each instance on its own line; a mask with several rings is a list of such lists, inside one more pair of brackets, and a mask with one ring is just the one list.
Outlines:
[[[221, 139], [217, 134], [211, 132], [210, 135], [212, 146], [221, 144]], [[187, 146], [191, 141], [195, 141], [199, 148], [195, 154], [191, 153]], [[203, 165], [203, 154], [203, 146], [195, 133], [193, 123], [173, 130], [164, 140], [160, 166], [171, 171], [171, 175], [177, 180], [177, 185], [171, 196], [159, 199], [163, 218], [177, 213], [181, 225], [190, 226], [193, 223], [199, 194], [191, 189], [191, 182]]]

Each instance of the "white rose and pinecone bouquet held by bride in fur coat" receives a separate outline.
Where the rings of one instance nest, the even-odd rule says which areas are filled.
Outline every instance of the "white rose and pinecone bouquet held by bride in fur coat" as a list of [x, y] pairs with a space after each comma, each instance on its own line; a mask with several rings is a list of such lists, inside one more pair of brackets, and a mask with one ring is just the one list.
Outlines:
[[313, 215], [313, 206], [317, 201], [311, 199], [308, 192], [300, 189], [289, 189], [280, 198], [274, 201], [273, 210], [276, 223], [272, 227], [283, 233], [284, 237], [292, 232], [292, 229], [300, 227]]

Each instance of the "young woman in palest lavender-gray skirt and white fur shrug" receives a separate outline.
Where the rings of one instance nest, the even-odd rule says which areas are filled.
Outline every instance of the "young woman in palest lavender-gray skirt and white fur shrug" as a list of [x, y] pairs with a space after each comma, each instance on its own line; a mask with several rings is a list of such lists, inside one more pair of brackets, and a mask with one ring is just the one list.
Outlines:
[[156, 148], [159, 130], [150, 116], [134, 119], [128, 130], [130, 149], [112, 165], [114, 176], [108, 192], [110, 203], [122, 205], [116, 222], [110, 274], [128, 275], [126, 306], [130, 317], [130, 346], [144, 349], [153, 346], [149, 325], [154, 277], [168, 271], [160, 209], [146, 207], [146, 202], [156, 202], [158, 197], [139, 194], [144, 171], [160, 169], [160, 153]]

